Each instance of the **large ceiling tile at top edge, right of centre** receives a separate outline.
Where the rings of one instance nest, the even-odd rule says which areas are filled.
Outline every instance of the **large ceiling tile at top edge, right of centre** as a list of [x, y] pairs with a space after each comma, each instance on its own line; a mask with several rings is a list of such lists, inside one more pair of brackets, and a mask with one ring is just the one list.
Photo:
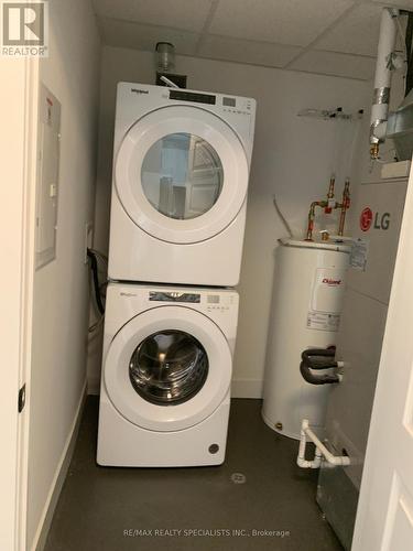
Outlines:
[[220, 0], [209, 32], [306, 46], [352, 3], [351, 0]]

